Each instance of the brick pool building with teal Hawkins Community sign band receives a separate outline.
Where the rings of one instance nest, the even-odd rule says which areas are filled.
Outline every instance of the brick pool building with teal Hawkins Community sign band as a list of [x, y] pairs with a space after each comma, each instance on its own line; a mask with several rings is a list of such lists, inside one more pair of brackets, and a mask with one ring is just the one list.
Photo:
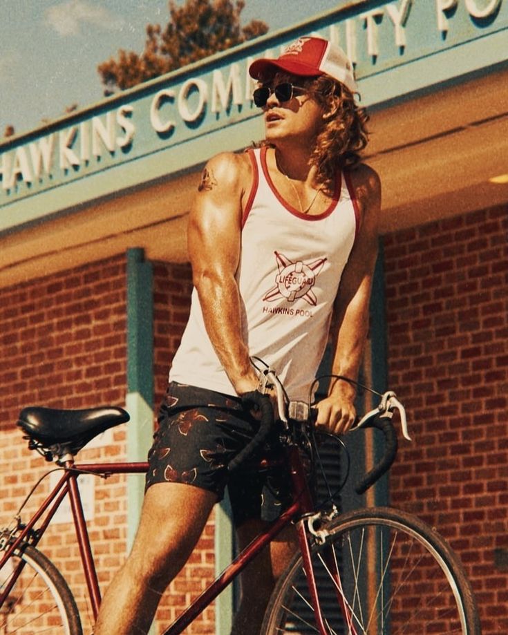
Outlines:
[[[129, 424], [82, 457], [146, 456], [189, 311], [200, 171], [263, 135], [250, 60], [311, 33], [355, 64], [383, 184], [368, 376], [397, 392], [415, 442], [401, 443], [382, 495], [450, 540], [483, 632], [506, 633], [507, 0], [352, 1], [0, 142], [0, 524], [50, 467], [15, 426], [23, 406], [126, 406]], [[129, 549], [142, 488], [82, 486], [102, 585]], [[66, 510], [42, 547], [89, 614]], [[231, 548], [218, 508], [153, 632]], [[231, 606], [229, 593], [188, 632], [227, 632]]]

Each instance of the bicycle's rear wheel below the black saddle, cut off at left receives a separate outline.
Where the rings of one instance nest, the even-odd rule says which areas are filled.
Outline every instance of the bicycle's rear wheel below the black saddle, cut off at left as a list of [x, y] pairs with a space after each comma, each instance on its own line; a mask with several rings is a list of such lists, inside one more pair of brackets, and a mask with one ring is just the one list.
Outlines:
[[20, 562], [21, 574], [0, 606], [0, 635], [82, 635], [79, 613], [66, 581], [34, 547], [23, 545], [0, 570], [0, 593]]

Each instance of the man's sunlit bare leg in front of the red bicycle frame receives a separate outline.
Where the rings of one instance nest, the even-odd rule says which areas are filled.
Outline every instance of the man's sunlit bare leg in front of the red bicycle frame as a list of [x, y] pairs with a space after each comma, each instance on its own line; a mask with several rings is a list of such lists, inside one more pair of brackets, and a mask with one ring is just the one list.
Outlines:
[[216, 500], [180, 483], [149, 488], [131, 554], [104, 595], [95, 635], [149, 631], [160, 596], [187, 562]]

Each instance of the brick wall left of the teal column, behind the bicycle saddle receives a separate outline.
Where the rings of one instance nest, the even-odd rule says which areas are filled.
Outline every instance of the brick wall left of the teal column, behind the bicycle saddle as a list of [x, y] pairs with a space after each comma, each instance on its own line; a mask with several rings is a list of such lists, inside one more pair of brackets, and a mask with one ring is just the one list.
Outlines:
[[[53, 466], [30, 453], [15, 423], [23, 406], [88, 408], [122, 405], [126, 394], [125, 259], [86, 267], [1, 290], [0, 305], [0, 524], [8, 524], [36, 480]], [[125, 427], [107, 446], [84, 449], [84, 461], [124, 457]], [[46, 478], [23, 511], [49, 492]], [[95, 482], [90, 533], [101, 580], [121, 564], [126, 540], [124, 477]], [[70, 524], [55, 524], [41, 549], [64, 571], [82, 613], [89, 614], [79, 551]]]

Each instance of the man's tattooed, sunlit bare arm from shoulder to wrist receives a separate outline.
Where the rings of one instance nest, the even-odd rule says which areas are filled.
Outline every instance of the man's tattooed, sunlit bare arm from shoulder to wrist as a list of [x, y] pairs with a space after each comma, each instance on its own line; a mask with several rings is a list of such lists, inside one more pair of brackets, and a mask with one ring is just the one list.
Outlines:
[[257, 386], [242, 337], [241, 299], [235, 279], [243, 202], [250, 180], [247, 155], [223, 153], [211, 159], [191, 209], [187, 238], [207, 333], [238, 395]]

